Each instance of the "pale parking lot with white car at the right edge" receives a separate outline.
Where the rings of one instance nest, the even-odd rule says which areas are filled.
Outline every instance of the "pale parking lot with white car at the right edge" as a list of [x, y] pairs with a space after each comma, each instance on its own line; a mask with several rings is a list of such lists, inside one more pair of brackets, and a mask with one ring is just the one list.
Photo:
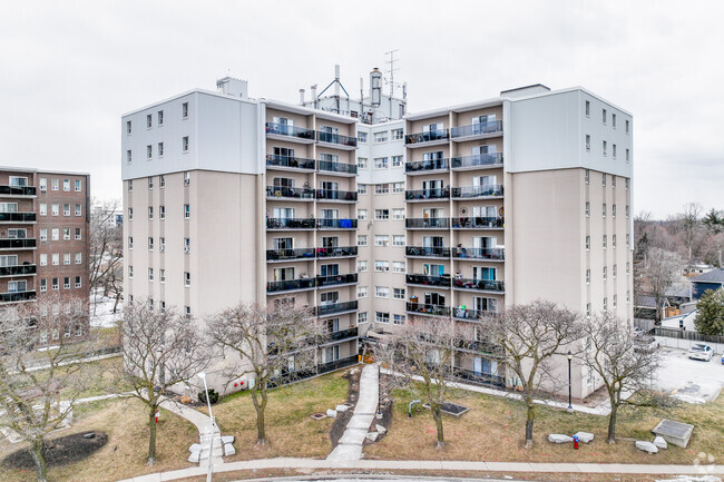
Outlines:
[[724, 365], [722, 354], [716, 353], [710, 362], [689, 360], [685, 350], [662, 347], [662, 368], [654, 387], [673, 393], [691, 403], [711, 402], [722, 391]]

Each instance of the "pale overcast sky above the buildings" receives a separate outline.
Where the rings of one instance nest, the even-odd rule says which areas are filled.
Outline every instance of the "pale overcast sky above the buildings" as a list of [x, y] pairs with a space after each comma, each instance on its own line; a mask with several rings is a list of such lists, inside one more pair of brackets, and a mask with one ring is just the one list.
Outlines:
[[[716, 1], [13, 1], [0, 10], [3, 166], [91, 174], [120, 197], [121, 114], [226, 75], [296, 102], [334, 65], [400, 49], [409, 110], [529, 83], [634, 115], [634, 210], [724, 209], [724, 7]], [[355, 94], [353, 94], [354, 96]]]

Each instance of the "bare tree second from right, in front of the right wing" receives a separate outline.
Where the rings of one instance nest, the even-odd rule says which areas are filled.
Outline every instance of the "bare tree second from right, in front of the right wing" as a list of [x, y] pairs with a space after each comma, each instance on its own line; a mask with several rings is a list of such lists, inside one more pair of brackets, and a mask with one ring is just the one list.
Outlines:
[[544, 384], [556, 385], [557, 374], [552, 357], [562, 345], [580, 336], [578, 315], [547, 301], [506, 308], [497, 315], [482, 318], [488, 338], [503, 351], [503, 360], [518, 378], [521, 395], [528, 409], [526, 447], [532, 446], [536, 419], [534, 400]]

